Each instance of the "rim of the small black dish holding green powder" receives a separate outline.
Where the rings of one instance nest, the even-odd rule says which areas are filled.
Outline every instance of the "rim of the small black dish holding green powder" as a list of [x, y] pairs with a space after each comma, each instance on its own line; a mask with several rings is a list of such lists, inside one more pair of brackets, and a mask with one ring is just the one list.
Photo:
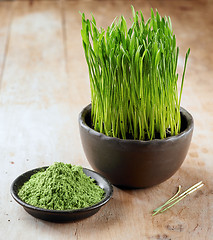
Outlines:
[[[83, 171], [86, 170], [88, 172], [91, 172], [95, 175], [98, 175], [101, 179], [103, 179], [107, 186], [109, 187], [109, 191], [108, 192], [105, 192], [105, 196], [104, 198], [92, 205], [92, 206], [89, 206], [89, 207], [86, 207], [86, 208], [80, 208], [80, 209], [72, 209], [72, 210], [53, 210], [53, 209], [45, 209], [45, 208], [39, 208], [39, 207], [36, 207], [36, 206], [33, 206], [33, 205], [30, 205], [26, 202], [24, 202], [23, 200], [21, 200], [19, 198], [19, 196], [17, 195], [16, 191], [15, 191], [15, 185], [17, 183], [17, 181], [19, 181], [21, 178], [24, 177], [25, 174], [30, 174], [32, 173], [31, 175], [29, 175], [29, 178], [36, 172], [42, 170], [42, 169], [46, 169], [48, 168], [48, 166], [44, 166], [44, 167], [39, 167], [39, 168], [34, 168], [32, 170], [29, 170], [27, 172], [24, 172], [23, 174], [19, 175], [11, 184], [11, 187], [10, 187], [10, 193], [12, 195], [12, 197], [14, 198], [14, 200], [19, 203], [22, 207], [26, 208], [26, 209], [29, 209], [29, 210], [34, 210], [34, 211], [39, 211], [39, 212], [43, 212], [43, 213], [48, 213], [48, 214], [77, 214], [77, 213], [84, 213], [84, 212], [89, 212], [89, 211], [93, 211], [95, 209], [98, 209], [98, 208], [101, 208], [103, 205], [105, 205], [112, 197], [113, 195], [113, 186], [112, 184], [109, 182], [108, 179], [106, 179], [105, 177], [103, 177], [101, 174], [91, 170], [91, 169], [88, 169], [88, 168], [84, 168], [83, 167]], [[86, 174], [86, 173], [85, 173]], [[87, 175], [87, 174], [86, 174]], [[87, 175], [88, 176], [88, 175]], [[92, 177], [91, 177], [92, 178]], [[96, 182], [97, 180], [95, 178], [93, 178]], [[102, 188], [103, 189], [103, 188]], [[103, 189], [104, 190], [104, 189]]]

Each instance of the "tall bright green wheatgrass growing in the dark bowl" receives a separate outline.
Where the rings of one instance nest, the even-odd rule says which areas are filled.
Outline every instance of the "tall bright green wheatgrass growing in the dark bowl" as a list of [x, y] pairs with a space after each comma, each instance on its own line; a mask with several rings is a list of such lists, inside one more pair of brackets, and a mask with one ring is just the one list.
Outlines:
[[107, 136], [152, 140], [177, 135], [180, 101], [179, 48], [169, 17], [151, 9], [145, 22], [135, 12], [128, 29], [123, 16], [104, 30], [82, 14], [82, 40], [90, 77], [92, 127]]

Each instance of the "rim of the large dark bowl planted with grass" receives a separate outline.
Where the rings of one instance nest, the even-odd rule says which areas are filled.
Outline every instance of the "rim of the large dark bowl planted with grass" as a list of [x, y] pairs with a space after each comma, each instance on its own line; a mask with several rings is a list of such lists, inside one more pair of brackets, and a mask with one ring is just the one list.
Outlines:
[[110, 137], [107, 136], [103, 133], [100, 133], [98, 131], [95, 131], [93, 128], [91, 128], [85, 121], [86, 115], [88, 112], [91, 111], [91, 103], [88, 104], [86, 107], [82, 109], [82, 111], [79, 113], [78, 116], [78, 122], [81, 128], [85, 129], [88, 133], [90, 133], [93, 136], [99, 137], [101, 139], [105, 139], [107, 141], [116, 141], [119, 142], [120, 144], [129, 144], [129, 143], [136, 143], [136, 144], [163, 144], [166, 142], [171, 142], [174, 140], [178, 140], [185, 135], [188, 135], [190, 132], [193, 131], [194, 129], [194, 119], [192, 115], [183, 107], [180, 107], [180, 113], [182, 114], [183, 117], [185, 117], [187, 121], [187, 127], [183, 131], [181, 131], [179, 134], [174, 135], [174, 136], [169, 136], [163, 139], [152, 139], [152, 140], [137, 140], [137, 139], [121, 139], [117, 137]]

